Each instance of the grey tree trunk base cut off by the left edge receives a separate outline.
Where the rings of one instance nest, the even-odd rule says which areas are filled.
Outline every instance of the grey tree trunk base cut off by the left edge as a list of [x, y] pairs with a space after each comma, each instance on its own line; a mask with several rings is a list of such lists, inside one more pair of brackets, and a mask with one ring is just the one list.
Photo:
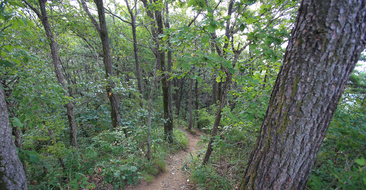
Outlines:
[[11, 135], [2, 88], [0, 88], [0, 137], [0, 190], [28, 190], [23, 166]]

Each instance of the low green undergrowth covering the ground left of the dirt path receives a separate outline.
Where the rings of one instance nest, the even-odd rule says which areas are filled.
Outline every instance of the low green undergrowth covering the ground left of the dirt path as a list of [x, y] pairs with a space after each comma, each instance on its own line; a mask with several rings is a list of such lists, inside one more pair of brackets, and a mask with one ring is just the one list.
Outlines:
[[[31, 149], [33, 143], [38, 144], [35, 151], [20, 152], [26, 158], [29, 189], [95, 189], [96, 183], [123, 189], [126, 184], [137, 184], [141, 178], [151, 181], [154, 175], [165, 170], [167, 155], [188, 146], [180, 129], [173, 131], [173, 144], [166, 143], [161, 126], [153, 125], [152, 131], [152, 159], [149, 162], [145, 157], [145, 125], [130, 130], [128, 138], [123, 128], [103, 130], [95, 136], [80, 138], [78, 149], [65, 147], [67, 143], [62, 139], [51, 145], [46, 131], [35, 130], [32, 136], [23, 138], [26, 150]], [[64, 166], [58, 158], [63, 159]]]

